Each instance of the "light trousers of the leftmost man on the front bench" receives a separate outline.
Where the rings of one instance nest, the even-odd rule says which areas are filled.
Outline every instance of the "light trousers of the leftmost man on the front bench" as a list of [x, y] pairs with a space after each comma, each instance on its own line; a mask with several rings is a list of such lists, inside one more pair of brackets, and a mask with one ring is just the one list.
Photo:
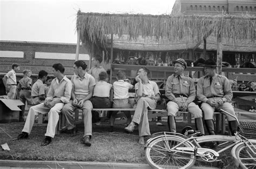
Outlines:
[[48, 107], [44, 106], [44, 103], [41, 103], [30, 107], [28, 117], [26, 117], [26, 122], [22, 132], [31, 132], [33, 124], [35, 122], [35, 116], [38, 115], [38, 113], [48, 114], [48, 125], [46, 133], [44, 135], [54, 138], [55, 129], [59, 121], [59, 113], [62, 111], [63, 106], [64, 103], [57, 103], [55, 104], [55, 106], [49, 109]]

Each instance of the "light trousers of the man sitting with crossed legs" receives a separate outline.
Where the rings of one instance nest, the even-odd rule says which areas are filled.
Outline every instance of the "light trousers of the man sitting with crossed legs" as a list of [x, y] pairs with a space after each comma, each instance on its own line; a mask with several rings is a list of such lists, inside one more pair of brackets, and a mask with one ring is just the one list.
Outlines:
[[157, 102], [154, 99], [142, 97], [137, 100], [137, 106], [132, 118], [134, 123], [139, 124], [139, 136], [150, 136], [149, 119], [147, 109], [156, 109]]

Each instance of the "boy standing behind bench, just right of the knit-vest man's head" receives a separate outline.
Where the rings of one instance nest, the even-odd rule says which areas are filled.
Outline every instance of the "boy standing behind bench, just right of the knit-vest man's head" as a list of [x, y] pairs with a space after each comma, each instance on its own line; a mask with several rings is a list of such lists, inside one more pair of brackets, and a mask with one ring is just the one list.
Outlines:
[[100, 72], [106, 72], [106, 70], [101, 65], [102, 63], [102, 57], [99, 55], [96, 55], [92, 58], [92, 65], [94, 65], [88, 73], [92, 75], [95, 78], [95, 82], [99, 82], [99, 73]]

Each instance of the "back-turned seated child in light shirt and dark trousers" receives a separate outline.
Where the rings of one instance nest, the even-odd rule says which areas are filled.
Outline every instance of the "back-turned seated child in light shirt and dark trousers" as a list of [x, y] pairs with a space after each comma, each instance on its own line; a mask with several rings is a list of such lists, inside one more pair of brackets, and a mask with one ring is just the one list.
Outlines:
[[107, 83], [107, 79], [106, 72], [99, 73], [99, 82], [96, 82], [91, 98], [93, 108], [107, 109], [112, 107], [112, 102], [109, 98], [112, 84]]

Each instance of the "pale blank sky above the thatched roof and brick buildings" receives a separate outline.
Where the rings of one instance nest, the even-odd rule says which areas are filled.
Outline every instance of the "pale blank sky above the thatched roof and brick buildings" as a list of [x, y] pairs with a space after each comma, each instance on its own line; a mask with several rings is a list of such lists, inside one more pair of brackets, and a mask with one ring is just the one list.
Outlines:
[[0, 0], [0, 40], [77, 43], [76, 13], [170, 14], [175, 0]]

